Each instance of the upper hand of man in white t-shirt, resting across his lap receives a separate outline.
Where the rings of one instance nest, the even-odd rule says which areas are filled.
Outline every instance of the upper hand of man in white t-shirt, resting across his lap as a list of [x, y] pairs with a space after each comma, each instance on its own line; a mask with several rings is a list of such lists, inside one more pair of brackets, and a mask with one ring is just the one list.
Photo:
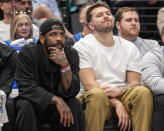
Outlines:
[[104, 90], [105, 94], [109, 97], [117, 97], [121, 95], [121, 89], [118, 87], [110, 87], [108, 85], [100, 86], [102, 90]]

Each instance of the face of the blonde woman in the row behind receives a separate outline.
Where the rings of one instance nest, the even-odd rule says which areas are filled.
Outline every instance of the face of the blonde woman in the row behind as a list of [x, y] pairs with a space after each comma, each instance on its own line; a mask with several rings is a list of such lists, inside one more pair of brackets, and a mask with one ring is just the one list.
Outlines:
[[22, 17], [16, 29], [16, 38], [29, 39], [31, 23], [26, 17]]

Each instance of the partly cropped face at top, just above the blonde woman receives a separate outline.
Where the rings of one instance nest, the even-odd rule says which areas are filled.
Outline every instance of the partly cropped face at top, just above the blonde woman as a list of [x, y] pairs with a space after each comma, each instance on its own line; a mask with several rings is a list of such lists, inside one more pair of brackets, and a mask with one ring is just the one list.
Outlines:
[[32, 1], [31, 0], [21, 0], [20, 4], [22, 11], [31, 11], [32, 12]]

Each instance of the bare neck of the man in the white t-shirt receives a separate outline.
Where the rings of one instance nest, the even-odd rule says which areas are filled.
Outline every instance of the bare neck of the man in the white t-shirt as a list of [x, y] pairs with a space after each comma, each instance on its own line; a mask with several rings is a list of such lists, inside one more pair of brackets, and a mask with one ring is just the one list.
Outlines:
[[114, 46], [113, 32], [94, 32], [93, 35], [104, 46]]

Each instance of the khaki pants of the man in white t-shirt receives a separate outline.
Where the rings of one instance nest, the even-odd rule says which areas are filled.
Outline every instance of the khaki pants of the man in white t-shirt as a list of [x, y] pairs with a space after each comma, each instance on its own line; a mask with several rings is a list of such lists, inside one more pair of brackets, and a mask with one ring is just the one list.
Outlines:
[[[105, 120], [115, 114], [104, 91], [98, 88], [87, 91], [79, 99], [86, 99], [86, 131], [103, 131]], [[127, 89], [118, 99], [124, 104], [131, 120], [133, 131], [151, 131], [153, 96], [146, 87]]]

